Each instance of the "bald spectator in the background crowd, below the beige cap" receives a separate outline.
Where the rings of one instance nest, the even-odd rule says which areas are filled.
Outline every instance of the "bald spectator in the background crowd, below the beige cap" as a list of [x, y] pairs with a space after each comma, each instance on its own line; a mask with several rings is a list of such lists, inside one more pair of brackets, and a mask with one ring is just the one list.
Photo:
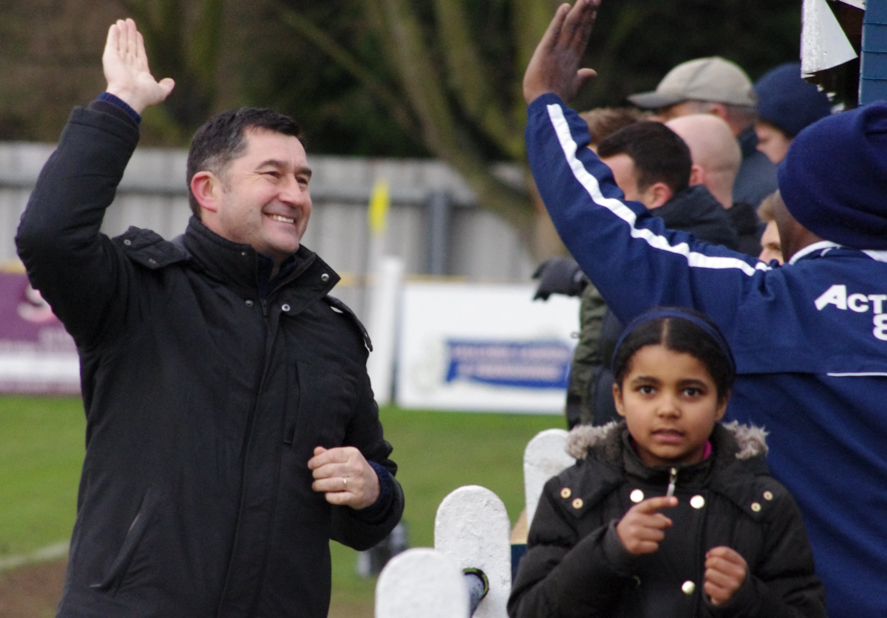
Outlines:
[[729, 125], [711, 114], [680, 116], [665, 125], [690, 148], [693, 157], [690, 185], [705, 185], [733, 221], [739, 236], [739, 250], [752, 258], [757, 257], [761, 252], [764, 225], [750, 204], [733, 202], [733, 185], [742, 163], [742, 151]]

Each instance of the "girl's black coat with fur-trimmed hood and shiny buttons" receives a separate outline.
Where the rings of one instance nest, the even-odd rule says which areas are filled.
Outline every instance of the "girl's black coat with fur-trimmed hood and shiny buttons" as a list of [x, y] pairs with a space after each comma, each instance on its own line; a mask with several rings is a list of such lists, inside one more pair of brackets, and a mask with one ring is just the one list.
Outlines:
[[[539, 499], [509, 616], [825, 616], [799, 511], [767, 471], [764, 433], [727, 427], [712, 432], [712, 456], [679, 467], [679, 505], [663, 511], [673, 526], [658, 551], [640, 557], [625, 550], [616, 523], [634, 505], [633, 491], [665, 495], [669, 469], [640, 463], [624, 423], [574, 429], [579, 461]], [[701, 508], [691, 506], [694, 496]], [[742, 554], [750, 572], [725, 606], [703, 592], [705, 552], [719, 545]]]

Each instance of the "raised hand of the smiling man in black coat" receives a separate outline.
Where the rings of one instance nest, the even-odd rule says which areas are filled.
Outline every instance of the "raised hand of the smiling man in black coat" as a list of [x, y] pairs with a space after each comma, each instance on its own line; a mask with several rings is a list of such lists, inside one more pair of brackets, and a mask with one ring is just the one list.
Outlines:
[[102, 55], [107, 91], [122, 99], [137, 114], [145, 107], [163, 102], [176, 85], [169, 77], [155, 80], [148, 68], [145, 39], [133, 20], [118, 20], [108, 29]]

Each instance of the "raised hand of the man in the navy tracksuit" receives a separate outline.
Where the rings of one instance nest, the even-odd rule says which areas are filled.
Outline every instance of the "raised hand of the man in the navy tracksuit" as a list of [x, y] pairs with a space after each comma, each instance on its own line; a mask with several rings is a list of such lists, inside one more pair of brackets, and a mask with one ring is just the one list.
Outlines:
[[564, 101], [576, 96], [582, 86], [597, 73], [579, 68], [600, 0], [576, 0], [561, 4], [536, 46], [526, 73], [523, 74], [523, 98], [532, 103], [553, 92]]

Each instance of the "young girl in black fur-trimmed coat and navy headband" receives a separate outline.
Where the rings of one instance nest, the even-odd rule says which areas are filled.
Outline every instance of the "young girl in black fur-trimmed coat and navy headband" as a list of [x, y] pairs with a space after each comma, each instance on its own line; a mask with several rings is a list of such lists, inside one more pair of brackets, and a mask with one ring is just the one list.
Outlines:
[[701, 313], [657, 309], [614, 353], [621, 423], [570, 432], [508, 602], [542, 616], [824, 617], [797, 505], [765, 432], [718, 424], [736, 368]]

